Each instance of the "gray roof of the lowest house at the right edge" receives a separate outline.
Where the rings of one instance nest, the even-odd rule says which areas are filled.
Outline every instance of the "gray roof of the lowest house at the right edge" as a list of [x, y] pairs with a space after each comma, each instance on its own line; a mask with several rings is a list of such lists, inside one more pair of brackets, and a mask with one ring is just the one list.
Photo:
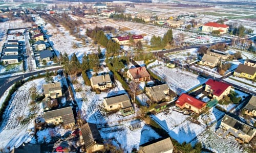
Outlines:
[[233, 127], [234, 129], [242, 131], [244, 134], [246, 134], [248, 136], [252, 136], [253, 133], [255, 132], [254, 127], [247, 125], [237, 119], [234, 119], [227, 114], [225, 114], [225, 116], [222, 118], [221, 121], [224, 122], [225, 124]]

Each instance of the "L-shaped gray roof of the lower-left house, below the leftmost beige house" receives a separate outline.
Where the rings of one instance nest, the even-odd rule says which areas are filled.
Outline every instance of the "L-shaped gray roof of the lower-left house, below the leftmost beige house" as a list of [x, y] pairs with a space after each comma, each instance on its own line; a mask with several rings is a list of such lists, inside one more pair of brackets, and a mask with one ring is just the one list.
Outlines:
[[45, 120], [53, 119], [53, 118], [56, 118], [59, 116], [61, 116], [64, 124], [69, 124], [69, 123], [75, 122], [73, 110], [72, 110], [71, 106], [53, 110], [53, 111], [48, 111], [48, 112], [44, 113]]

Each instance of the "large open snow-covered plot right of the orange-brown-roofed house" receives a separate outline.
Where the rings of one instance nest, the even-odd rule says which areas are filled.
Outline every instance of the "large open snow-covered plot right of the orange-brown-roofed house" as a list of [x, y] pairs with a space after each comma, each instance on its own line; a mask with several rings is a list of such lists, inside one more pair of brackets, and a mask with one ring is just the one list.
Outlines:
[[179, 68], [168, 68], [161, 65], [151, 68], [151, 71], [166, 81], [170, 89], [177, 94], [187, 92], [189, 89], [207, 81], [207, 79]]

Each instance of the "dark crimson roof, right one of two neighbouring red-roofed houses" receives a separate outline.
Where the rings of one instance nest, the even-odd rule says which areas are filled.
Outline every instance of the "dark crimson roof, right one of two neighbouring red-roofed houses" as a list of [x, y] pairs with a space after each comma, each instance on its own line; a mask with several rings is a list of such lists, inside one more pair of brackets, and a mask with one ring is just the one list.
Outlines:
[[210, 89], [214, 90], [214, 95], [217, 96], [220, 96], [229, 86], [231, 86], [227, 83], [215, 81], [212, 79], [209, 79], [205, 84], [209, 85]]

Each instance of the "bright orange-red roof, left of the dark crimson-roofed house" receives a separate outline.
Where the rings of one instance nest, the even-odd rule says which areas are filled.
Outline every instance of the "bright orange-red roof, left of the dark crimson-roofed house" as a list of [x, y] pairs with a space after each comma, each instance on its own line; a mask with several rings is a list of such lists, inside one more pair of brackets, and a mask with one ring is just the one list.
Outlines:
[[182, 93], [175, 103], [180, 106], [183, 106], [185, 103], [187, 103], [187, 104], [194, 106], [198, 109], [202, 109], [206, 105], [203, 101], [201, 101], [193, 96], [190, 96], [186, 93]]

